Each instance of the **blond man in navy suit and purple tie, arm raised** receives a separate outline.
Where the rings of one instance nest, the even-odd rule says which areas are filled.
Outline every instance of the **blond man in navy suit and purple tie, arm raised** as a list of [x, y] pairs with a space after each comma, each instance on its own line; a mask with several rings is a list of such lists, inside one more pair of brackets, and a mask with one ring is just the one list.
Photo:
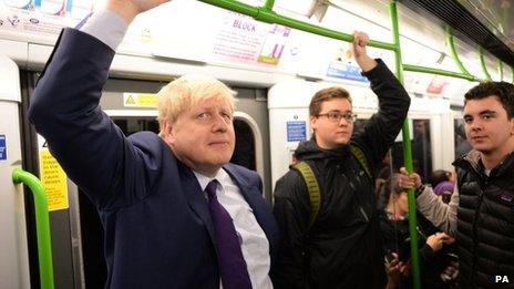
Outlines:
[[261, 180], [228, 164], [235, 93], [207, 76], [169, 83], [157, 95], [160, 135], [125, 137], [99, 106], [127, 25], [162, 2], [109, 0], [65, 29], [30, 120], [99, 210], [107, 288], [271, 288], [278, 229]]

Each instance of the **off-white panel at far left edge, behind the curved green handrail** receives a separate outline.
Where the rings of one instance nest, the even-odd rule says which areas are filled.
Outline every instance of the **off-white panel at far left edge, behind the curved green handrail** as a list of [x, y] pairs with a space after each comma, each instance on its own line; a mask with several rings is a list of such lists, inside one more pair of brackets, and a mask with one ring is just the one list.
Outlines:
[[23, 186], [12, 183], [22, 166], [18, 66], [0, 55], [0, 288], [30, 288]]

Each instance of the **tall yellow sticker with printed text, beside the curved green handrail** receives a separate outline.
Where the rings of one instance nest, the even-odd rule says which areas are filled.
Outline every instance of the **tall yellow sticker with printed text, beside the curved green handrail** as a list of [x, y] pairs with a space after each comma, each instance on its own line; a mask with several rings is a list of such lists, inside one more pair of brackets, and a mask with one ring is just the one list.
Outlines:
[[66, 209], [70, 206], [66, 174], [48, 148], [40, 148], [39, 172], [41, 183], [47, 190], [49, 210]]

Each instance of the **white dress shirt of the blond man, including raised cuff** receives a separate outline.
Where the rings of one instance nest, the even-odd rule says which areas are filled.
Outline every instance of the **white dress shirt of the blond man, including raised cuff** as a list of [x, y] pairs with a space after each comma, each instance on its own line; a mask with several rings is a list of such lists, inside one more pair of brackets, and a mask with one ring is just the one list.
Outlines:
[[[127, 28], [127, 23], [122, 18], [110, 11], [95, 12], [78, 25], [80, 31], [96, 38], [114, 51], [123, 41]], [[214, 178], [194, 173], [204, 192], [207, 184]], [[219, 169], [215, 178], [220, 184], [216, 190], [218, 202], [233, 218], [234, 227], [243, 239], [241, 251], [251, 287], [256, 289], [273, 288], [269, 279], [271, 262], [269, 241], [263, 228], [257, 223], [253, 209], [246, 203], [239, 187], [232, 180], [230, 176], [224, 169]], [[219, 288], [223, 288], [222, 283], [219, 283]]]

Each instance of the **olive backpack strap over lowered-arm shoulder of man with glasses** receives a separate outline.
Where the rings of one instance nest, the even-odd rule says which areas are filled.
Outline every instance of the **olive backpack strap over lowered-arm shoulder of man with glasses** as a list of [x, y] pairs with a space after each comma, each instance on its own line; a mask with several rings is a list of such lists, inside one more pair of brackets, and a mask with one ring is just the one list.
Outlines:
[[319, 207], [321, 203], [321, 193], [319, 189], [318, 180], [316, 179], [315, 172], [306, 162], [299, 162], [292, 166], [296, 171], [300, 173], [304, 177], [304, 180], [307, 186], [307, 192], [309, 194], [310, 200], [310, 215], [309, 215], [309, 223], [307, 224], [307, 230], [309, 230], [316, 221], [318, 217]]

